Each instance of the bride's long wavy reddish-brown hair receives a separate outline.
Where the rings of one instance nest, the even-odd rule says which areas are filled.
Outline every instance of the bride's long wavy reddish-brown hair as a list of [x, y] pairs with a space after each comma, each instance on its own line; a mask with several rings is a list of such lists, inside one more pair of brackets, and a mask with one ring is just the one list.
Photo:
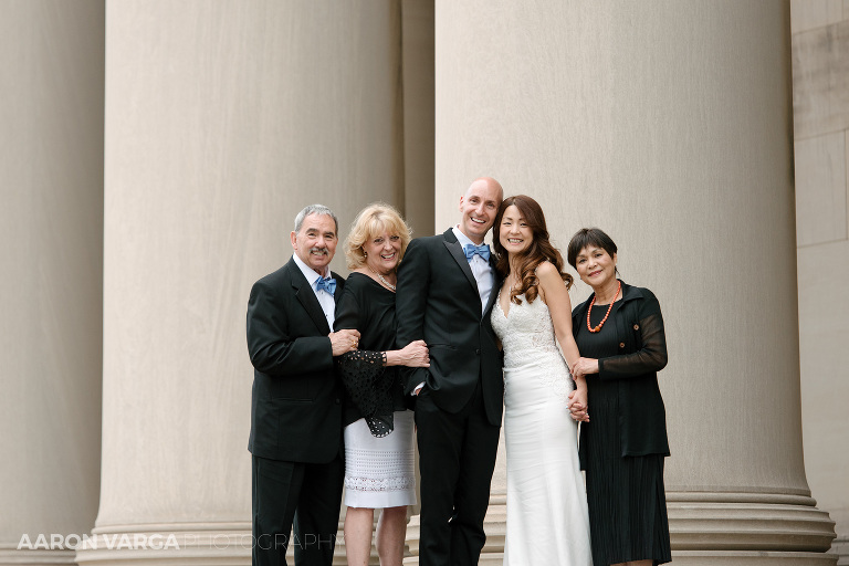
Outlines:
[[563, 271], [563, 255], [560, 255], [557, 248], [552, 245], [552, 242], [548, 240], [548, 229], [545, 226], [543, 208], [526, 195], [516, 195], [515, 197], [507, 197], [504, 199], [499, 208], [499, 213], [495, 216], [492, 247], [499, 256], [499, 261], [495, 264], [499, 274], [501, 274], [502, 277], [506, 277], [507, 273], [510, 273], [507, 251], [501, 244], [501, 221], [504, 218], [504, 211], [511, 206], [518, 209], [525, 223], [527, 223], [527, 227], [531, 229], [534, 240], [525, 251], [520, 252], [516, 255], [515, 265], [518, 285], [514, 286], [511, 291], [510, 301], [517, 305], [522, 304], [522, 300], [518, 298], [518, 295], [524, 293], [528, 303], [534, 302], [539, 294], [539, 281], [536, 279], [535, 270], [544, 261], [548, 261], [557, 268], [557, 273], [560, 274], [560, 279], [566, 283], [566, 289], [569, 289], [574, 280], [572, 275]]

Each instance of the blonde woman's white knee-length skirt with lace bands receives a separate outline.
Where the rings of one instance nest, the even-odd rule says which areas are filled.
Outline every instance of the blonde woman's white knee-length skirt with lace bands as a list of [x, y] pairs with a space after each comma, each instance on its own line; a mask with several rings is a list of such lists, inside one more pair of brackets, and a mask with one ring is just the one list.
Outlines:
[[396, 411], [387, 437], [371, 436], [365, 419], [345, 427], [345, 505], [384, 509], [416, 504], [412, 411]]

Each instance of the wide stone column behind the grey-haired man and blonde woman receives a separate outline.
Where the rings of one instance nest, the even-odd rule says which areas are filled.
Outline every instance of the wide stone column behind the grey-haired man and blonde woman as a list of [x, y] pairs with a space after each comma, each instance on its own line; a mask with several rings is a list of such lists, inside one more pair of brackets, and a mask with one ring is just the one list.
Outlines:
[[106, 13], [103, 481], [76, 559], [247, 564], [248, 294], [289, 260], [305, 205], [345, 234], [398, 201], [398, 2]]

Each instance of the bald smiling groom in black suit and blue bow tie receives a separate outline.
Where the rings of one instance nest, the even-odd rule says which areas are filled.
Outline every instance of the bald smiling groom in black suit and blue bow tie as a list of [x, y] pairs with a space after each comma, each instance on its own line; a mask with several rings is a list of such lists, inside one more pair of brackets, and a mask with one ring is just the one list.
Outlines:
[[501, 282], [483, 243], [503, 190], [476, 179], [460, 197], [460, 223], [413, 240], [398, 270], [398, 345], [423, 339], [430, 368], [410, 368], [421, 471], [419, 564], [474, 565], [486, 541], [504, 398], [490, 325]]

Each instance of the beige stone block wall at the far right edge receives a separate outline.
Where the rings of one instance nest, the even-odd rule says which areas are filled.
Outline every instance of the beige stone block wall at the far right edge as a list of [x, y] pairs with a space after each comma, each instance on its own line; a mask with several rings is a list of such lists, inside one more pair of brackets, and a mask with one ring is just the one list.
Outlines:
[[801, 410], [814, 497], [849, 564], [849, 1], [794, 0]]

